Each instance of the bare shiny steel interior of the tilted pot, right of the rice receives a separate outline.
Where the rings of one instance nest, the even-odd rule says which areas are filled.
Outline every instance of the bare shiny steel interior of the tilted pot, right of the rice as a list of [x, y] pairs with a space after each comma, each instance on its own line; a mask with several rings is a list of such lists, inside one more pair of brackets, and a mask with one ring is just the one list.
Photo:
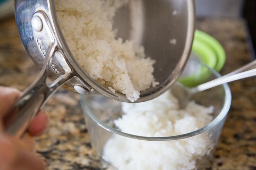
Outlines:
[[166, 90], [184, 69], [193, 40], [193, 10], [192, 1], [186, 0], [131, 0], [116, 14], [117, 37], [134, 40], [156, 61], [154, 77], [160, 86], [149, 91]]

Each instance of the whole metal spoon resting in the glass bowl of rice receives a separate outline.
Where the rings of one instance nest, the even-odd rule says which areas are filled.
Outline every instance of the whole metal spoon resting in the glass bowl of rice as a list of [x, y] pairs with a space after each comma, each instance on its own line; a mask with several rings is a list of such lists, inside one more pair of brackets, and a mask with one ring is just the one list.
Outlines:
[[185, 87], [182, 83], [176, 82], [173, 84], [171, 90], [172, 94], [179, 100], [180, 108], [185, 108], [193, 95], [196, 93], [219, 86], [224, 83], [253, 76], [256, 76], [256, 60], [249, 62], [245, 66], [232, 71], [225, 76], [208, 81], [193, 88]]

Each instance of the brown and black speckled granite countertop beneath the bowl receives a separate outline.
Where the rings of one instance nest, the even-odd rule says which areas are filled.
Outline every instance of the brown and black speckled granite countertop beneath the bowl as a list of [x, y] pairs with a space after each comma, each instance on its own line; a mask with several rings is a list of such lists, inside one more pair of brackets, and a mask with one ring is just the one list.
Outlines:
[[[250, 61], [245, 23], [241, 19], [199, 19], [196, 27], [215, 37], [224, 47], [226, 74]], [[0, 23], [0, 85], [24, 90], [38, 76], [18, 35], [14, 18]], [[229, 83], [232, 104], [219, 144], [204, 170], [256, 170], [256, 81]], [[87, 133], [80, 96], [58, 90], [44, 109], [51, 122], [37, 138], [37, 153], [49, 170], [101, 170]]]

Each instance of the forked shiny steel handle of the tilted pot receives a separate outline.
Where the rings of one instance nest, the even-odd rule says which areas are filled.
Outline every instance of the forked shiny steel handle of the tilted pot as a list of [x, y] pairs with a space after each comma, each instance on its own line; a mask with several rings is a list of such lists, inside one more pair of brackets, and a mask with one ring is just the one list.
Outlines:
[[38, 78], [24, 90], [10, 111], [3, 117], [5, 132], [22, 137], [31, 120], [44, 106], [47, 99], [65, 82], [74, 77], [72, 71], [66, 72], [50, 84], [46, 84], [48, 69], [57, 49], [57, 43], [49, 46], [44, 64]]

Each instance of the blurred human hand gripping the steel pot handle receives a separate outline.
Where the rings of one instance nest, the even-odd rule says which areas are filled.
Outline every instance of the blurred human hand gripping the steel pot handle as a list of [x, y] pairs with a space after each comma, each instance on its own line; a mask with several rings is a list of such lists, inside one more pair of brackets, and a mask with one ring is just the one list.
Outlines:
[[46, 132], [49, 119], [40, 111], [22, 139], [4, 133], [2, 117], [20, 94], [15, 88], [0, 86], [0, 170], [44, 170], [45, 163], [35, 153], [34, 136]]

